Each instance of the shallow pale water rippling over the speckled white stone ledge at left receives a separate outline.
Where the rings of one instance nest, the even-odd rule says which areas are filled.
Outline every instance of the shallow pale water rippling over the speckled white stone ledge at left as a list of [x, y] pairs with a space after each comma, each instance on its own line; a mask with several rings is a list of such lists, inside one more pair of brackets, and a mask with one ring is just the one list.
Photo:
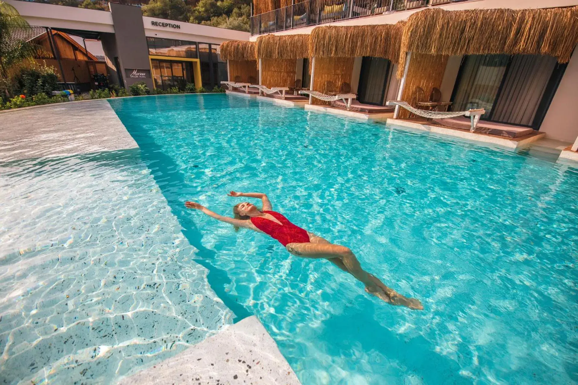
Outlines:
[[232, 322], [138, 148], [0, 162], [0, 200], [0, 384], [112, 383]]

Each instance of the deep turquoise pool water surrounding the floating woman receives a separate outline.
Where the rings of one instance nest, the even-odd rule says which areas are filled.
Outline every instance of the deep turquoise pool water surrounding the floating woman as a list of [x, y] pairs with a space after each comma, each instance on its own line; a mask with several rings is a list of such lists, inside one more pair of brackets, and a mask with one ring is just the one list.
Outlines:
[[[261, 320], [303, 384], [576, 383], [578, 170], [225, 95], [111, 100], [195, 261]], [[221, 214], [266, 192], [422, 312], [369, 297]]]

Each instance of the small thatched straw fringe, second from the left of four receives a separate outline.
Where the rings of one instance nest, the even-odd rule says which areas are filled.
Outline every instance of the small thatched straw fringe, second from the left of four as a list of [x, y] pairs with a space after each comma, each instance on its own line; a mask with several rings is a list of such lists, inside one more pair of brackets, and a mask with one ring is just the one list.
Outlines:
[[302, 59], [309, 57], [309, 35], [265, 35], [257, 38], [261, 59]]

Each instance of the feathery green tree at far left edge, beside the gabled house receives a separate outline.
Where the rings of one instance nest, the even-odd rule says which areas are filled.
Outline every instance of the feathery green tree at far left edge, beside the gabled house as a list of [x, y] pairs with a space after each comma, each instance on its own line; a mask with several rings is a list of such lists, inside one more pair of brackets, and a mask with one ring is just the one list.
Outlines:
[[[8, 79], [8, 69], [23, 61], [33, 58], [39, 54], [41, 48], [36, 44], [17, 41], [12, 38], [16, 30], [31, 31], [31, 27], [26, 20], [12, 5], [0, 0], [0, 78], [3, 81]], [[4, 83], [6, 95], [8, 88]]]

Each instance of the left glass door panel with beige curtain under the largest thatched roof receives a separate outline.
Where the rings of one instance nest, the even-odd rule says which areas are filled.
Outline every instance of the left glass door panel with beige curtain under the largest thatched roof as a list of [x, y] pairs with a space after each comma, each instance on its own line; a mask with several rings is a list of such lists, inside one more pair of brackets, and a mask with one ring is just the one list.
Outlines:
[[509, 55], [468, 55], [454, 91], [453, 111], [484, 109], [482, 118], [488, 119], [509, 61]]

